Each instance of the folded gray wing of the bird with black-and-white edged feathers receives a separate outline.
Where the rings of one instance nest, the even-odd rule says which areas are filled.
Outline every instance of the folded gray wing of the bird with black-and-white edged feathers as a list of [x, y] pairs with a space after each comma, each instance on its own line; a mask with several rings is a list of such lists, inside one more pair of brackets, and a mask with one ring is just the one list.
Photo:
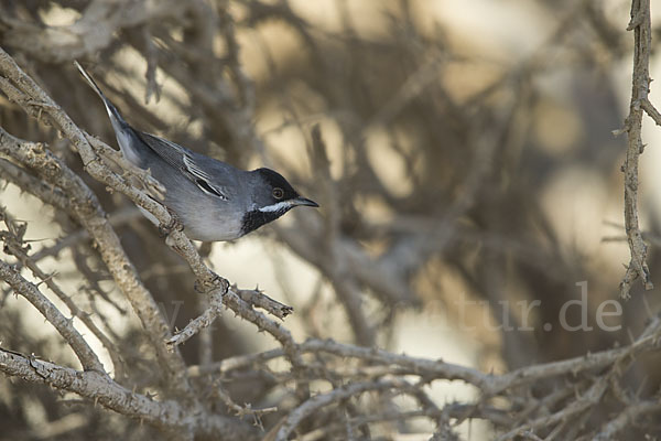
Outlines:
[[194, 182], [199, 190], [223, 201], [228, 200], [227, 191], [214, 183], [213, 176], [196, 162], [191, 150], [153, 135], [139, 132], [138, 130], [136, 130], [136, 133], [159, 158], [178, 170], [184, 176]]

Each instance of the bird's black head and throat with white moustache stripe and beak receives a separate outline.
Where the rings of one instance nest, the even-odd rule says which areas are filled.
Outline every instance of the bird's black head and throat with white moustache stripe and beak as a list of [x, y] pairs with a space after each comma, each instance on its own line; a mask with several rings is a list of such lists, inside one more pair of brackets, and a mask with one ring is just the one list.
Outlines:
[[243, 215], [242, 234], [256, 230], [269, 222], [275, 220], [299, 205], [318, 207], [318, 204], [302, 197], [278, 172], [270, 169], [257, 169], [250, 172], [254, 176], [251, 207]]

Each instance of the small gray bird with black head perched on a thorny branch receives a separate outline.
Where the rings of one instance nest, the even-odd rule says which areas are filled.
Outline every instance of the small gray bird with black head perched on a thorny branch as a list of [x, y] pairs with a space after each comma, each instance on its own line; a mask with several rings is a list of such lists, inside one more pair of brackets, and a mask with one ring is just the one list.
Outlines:
[[[275, 220], [297, 205], [318, 207], [302, 197], [278, 172], [238, 170], [195, 153], [166, 139], [133, 129], [75, 62], [87, 83], [104, 100], [122, 154], [151, 171], [165, 189], [163, 203], [178, 217], [186, 235], [196, 240], [232, 240]], [[142, 209], [158, 225], [156, 219]]]

